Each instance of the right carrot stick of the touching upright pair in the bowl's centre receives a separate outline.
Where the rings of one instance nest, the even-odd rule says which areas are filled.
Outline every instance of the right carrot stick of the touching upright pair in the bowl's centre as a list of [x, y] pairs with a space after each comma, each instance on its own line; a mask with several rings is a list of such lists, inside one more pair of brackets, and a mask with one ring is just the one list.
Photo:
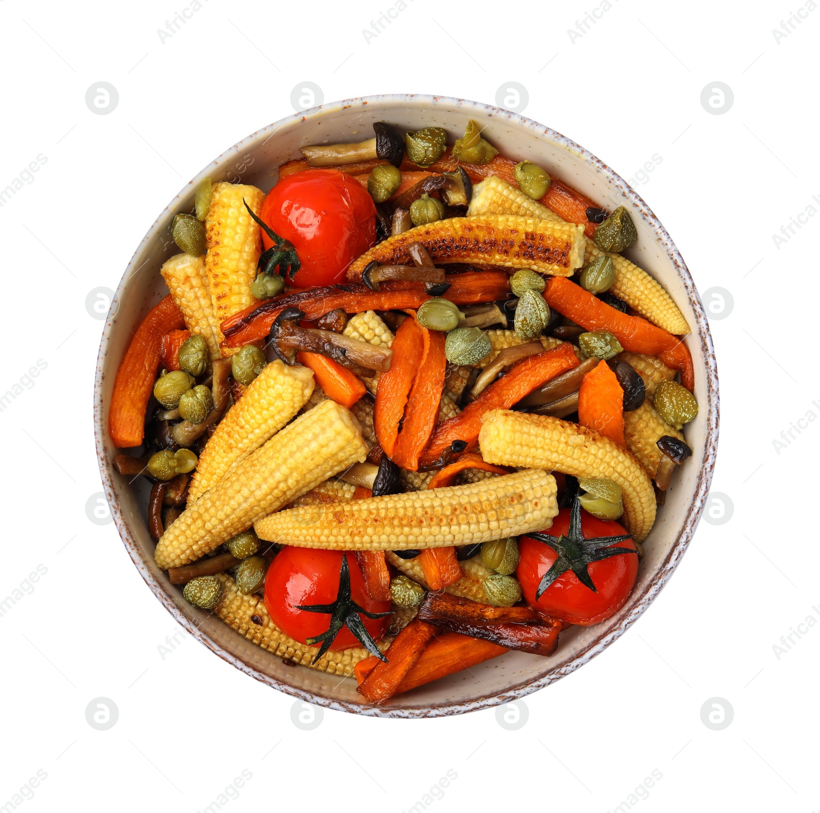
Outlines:
[[[404, 322], [409, 321], [409, 319], [404, 320]], [[447, 368], [447, 357], [444, 355], [444, 333], [428, 331], [426, 327], [421, 326], [419, 329], [424, 340], [421, 362], [415, 371], [416, 377], [413, 378], [407, 407], [404, 409], [402, 431], [399, 432], [393, 454], [389, 455], [394, 464], [408, 472], [418, 470], [418, 459], [435, 427], [441, 393], [444, 390], [444, 372]], [[387, 373], [385, 372], [384, 375]], [[381, 383], [379, 383], [379, 389], [381, 389]], [[378, 393], [376, 393], [376, 400], [378, 400]], [[373, 421], [375, 425], [375, 410]]]

